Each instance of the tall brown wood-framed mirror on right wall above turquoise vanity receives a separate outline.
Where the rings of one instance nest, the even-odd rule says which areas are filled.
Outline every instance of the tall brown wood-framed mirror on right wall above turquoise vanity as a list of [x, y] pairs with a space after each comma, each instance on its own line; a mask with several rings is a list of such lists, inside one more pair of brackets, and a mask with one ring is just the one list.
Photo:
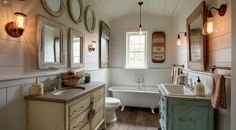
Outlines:
[[206, 4], [203, 1], [187, 18], [189, 69], [206, 70], [207, 41], [206, 36], [202, 34], [205, 21]]

